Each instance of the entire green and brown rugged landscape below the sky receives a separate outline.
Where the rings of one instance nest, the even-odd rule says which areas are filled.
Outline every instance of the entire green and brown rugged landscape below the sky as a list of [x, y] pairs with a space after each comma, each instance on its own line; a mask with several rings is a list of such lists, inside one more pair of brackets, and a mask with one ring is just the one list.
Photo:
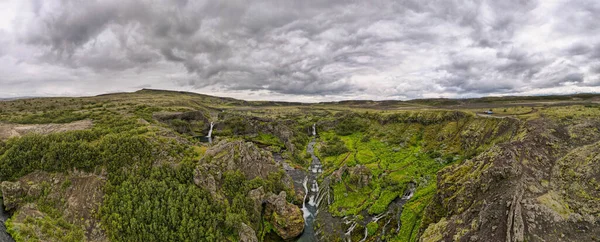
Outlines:
[[0, 239], [594, 241], [599, 102], [0, 101]]

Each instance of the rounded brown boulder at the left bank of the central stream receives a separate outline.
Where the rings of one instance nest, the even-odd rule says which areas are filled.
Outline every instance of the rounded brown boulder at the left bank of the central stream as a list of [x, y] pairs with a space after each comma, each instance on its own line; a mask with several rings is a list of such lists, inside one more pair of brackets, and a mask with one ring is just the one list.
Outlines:
[[265, 218], [284, 240], [292, 239], [304, 231], [304, 217], [297, 206], [286, 201], [285, 192], [270, 194], [266, 198]]

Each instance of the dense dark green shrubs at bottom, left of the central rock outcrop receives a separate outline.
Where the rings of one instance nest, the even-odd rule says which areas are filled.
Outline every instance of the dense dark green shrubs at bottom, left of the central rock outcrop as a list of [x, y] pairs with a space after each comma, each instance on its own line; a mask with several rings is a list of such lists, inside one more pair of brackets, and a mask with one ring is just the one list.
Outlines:
[[[189, 170], [189, 169], [183, 169]], [[186, 174], [187, 173], [187, 174]], [[102, 220], [112, 241], [217, 240], [225, 229], [224, 204], [190, 182], [191, 172], [152, 169], [149, 177], [128, 176], [105, 198]]]

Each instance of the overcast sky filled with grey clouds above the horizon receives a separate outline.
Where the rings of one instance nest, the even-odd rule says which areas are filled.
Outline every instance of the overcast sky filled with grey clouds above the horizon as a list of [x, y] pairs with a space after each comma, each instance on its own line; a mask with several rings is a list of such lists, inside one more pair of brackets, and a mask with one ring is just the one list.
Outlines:
[[600, 92], [598, 0], [0, 0], [0, 97]]

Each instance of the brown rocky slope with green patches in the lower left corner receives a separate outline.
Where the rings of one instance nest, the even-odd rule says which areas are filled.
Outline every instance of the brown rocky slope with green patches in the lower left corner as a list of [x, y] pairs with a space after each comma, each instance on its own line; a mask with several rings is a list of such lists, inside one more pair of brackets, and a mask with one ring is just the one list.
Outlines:
[[97, 212], [105, 178], [89, 173], [34, 172], [0, 184], [14, 212], [8, 230], [17, 241], [106, 241]]

